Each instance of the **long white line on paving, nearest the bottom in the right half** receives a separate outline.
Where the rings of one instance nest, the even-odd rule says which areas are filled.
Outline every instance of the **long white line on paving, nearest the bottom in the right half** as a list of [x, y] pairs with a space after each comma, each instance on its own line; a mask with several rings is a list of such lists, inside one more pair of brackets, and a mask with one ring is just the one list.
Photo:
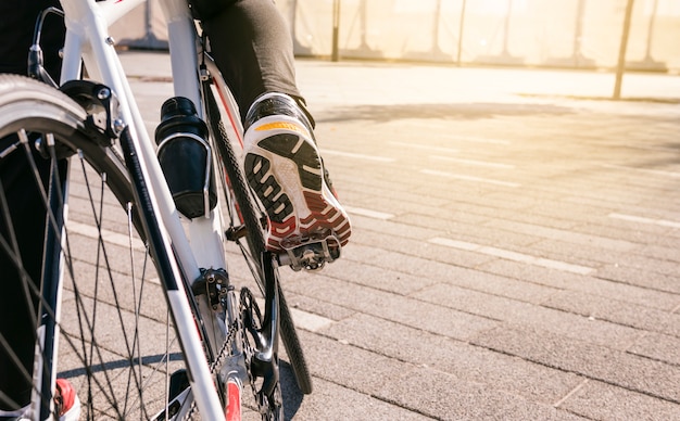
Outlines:
[[444, 245], [446, 247], [465, 250], [468, 252], [481, 253], [488, 256], [500, 257], [506, 260], [513, 260], [518, 263], [526, 263], [528, 265], [541, 266], [549, 269], [556, 269], [563, 272], [578, 273], [578, 275], [589, 275], [593, 270], [593, 268], [589, 268], [587, 266], [572, 265], [566, 261], [553, 260], [543, 257], [531, 256], [524, 253], [516, 253], [509, 250], [491, 247], [482, 244], [468, 243], [465, 241], [456, 241], [451, 239], [442, 239], [442, 238], [433, 238], [428, 241], [432, 244]]

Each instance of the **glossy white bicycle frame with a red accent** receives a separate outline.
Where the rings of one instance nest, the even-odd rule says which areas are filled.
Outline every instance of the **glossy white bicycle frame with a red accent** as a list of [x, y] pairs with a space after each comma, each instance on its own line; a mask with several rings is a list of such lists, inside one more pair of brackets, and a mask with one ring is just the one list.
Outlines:
[[[115, 93], [119, 102], [119, 115], [123, 125], [129, 127], [134, 148], [140, 157], [142, 173], [148, 182], [151, 196], [156, 199], [155, 215], [165, 230], [164, 241], [167, 250], [173, 250], [178, 261], [174, 263], [173, 272], [176, 279], [190, 282], [201, 276], [200, 268], [225, 268], [222, 220], [214, 210], [207, 217], [196, 218], [188, 224], [187, 238], [179, 213], [175, 207], [169, 189], [161, 166], [156, 160], [154, 144], [147, 133], [141, 114], [135, 102], [127, 77], [109, 36], [109, 27], [125, 16], [144, 0], [61, 0], [65, 13], [66, 39], [64, 44], [61, 84], [80, 78], [81, 64], [88, 77], [97, 80]], [[201, 87], [198, 66], [198, 38], [194, 22], [190, 15], [187, 0], [163, 0], [160, 2], [167, 22], [172, 72], [175, 95], [189, 98], [201, 110]], [[216, 74], [213, 63], [206, 63], [211, 72]], [[221, 87], [221, 95], [227, 106], [230, 124], [237, 136], [242, 133], [240, 119], [235, 118], [234, 101], [226, 87]], [[225, 100], [227, 99], [227, 100]], [[240, 136], [239, 136], [240, 138]], [[171, 247], [172, 244], [172, 247]], [[178, 282], [181, 284], [181, 282]], [[184, 344], [192, 344], [193, 348], [185, 348], [192, 395], [196, 398], [202, 418], [209, 420], [224, 419], [224, 408], [213, 385], [204, 358], [199, 334], [193, 324], [186, 291], [168, 291], [171, 305], [175, 309], [177, 329]], [[185, 321], [185, 322], [180, 322]]]

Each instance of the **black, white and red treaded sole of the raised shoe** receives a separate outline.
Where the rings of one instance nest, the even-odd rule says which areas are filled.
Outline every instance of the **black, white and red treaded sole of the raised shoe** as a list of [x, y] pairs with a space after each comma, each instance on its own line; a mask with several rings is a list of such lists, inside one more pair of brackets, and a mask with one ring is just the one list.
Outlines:
[[345, 245], [351, 228], [347, 213], [326, 186], [318, 151], [302, 136], [275, 133], [245, 154], [245, 175], [269, 217], [267, 248], [330, 230]]

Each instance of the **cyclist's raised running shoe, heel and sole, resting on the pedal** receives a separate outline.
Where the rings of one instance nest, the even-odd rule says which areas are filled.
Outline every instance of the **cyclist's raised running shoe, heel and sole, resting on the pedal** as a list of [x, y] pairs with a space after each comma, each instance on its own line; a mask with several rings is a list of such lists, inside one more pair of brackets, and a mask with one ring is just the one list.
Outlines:
[[269, 217], [274, 252], [332, 235], [348, 243], [350, 219], [331, 190], [312, 125], [281, 93], [255, 101], [247, 117], [245, 176]]

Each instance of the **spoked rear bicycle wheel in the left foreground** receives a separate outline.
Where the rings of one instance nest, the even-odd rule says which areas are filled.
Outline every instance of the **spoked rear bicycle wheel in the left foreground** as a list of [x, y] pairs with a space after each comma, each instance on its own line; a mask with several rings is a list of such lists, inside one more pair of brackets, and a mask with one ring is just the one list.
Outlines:
[[[87, 117], [47, 85], [0, 76], [0, 288], [11, 284], [11, 299], [28, 308], [18, 336], [0, 332], [0, 365], [12, 373], [0, 380], [0, 408], [23, 407], [33, 394], [33, 419], [38, 407], [45, 419], [56, 377], [74, 385], [80, 419], [151, 419], [168, 401], [171, 374], [185, 368], [182, 346], [124, 161]], [[26, 219], [15, 202], [22, 191], [42, 220]], [[45, 250], [37, 258], [26, 252], [36, 242]]]

